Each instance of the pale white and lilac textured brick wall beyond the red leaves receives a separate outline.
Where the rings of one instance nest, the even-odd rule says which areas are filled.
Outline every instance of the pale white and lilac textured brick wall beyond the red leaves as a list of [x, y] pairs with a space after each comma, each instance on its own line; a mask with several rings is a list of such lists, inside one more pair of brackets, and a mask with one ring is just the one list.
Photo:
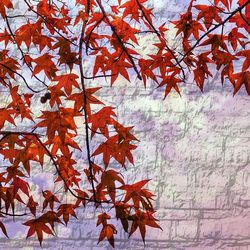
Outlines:
[[[183, 8], [173, 0], [167, 5], [157, 5], [159, 16]], [[119, 233], [117, 249], [250, 249], [250, 98], [244, 89], [232, 97], [231, 86], [222, 87], [215, 76], [203, 94], [189, 81], [181, 98], [172, 93], [163, 101], [163, 91], [150, 83], [144, 89], [137, 80], [121, 80], [104, 87], [102, 98], [117, 108], [121, 123], [135, 125], [135, 167], [124, 176], [152, 179], [163, 228], [148, 230], [145, 246], [138, 234], [128, 240]], [[97, 246], [91, 208], [78, 218], [58, 227], [43, 249], [111, 249]], [[37, 240], [24, 239], [16, 221], [10, 219], [12, 239], [1, 238], [0, 249], [40, 249]]]

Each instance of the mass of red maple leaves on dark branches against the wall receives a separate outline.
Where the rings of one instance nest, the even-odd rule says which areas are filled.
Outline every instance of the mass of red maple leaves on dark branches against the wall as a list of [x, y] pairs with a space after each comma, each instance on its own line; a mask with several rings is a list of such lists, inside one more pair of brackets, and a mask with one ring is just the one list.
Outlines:
[[[134, 165], [138, 140], [133, 127], [117, 121], [115, 108], [96, 97], [101, 87], [87, 84], [100, 79], [115, 85], [118, 76], [129, 81], [135, 73], [145, 87], [148, 79], [164, 87], [166, 98], [172, 89], [181, 93], [187, 73], [203, 91], [214, 67], [222, 83], [232, 83], [234, 95], [243, 85], [250, 95], [250, 2], [239, 0], [234, 9], [233, 0], [191, 0], [186, 13], [172, 21], [181, 52], [169, 45], [166, 25], [154, 24], [147, 0], [76, 0], [77, 13], [71, 2], [21, 2], [18, 15], [14, 0], [0, 2], [0, 87], [9, 95], [0, 106], [0, 155], [7, 162], [0, 172], [2, 232], [8, 237], [5, 217], [22, 216], [27, 237], [36, 234], [42, 244], [56, 223], [67, 225], [77, 219], [78, 208], [93, 204], [102, 226], [98, 242], [106, 238], [114, 247], [121, 228], [128, 236], [139, 231], [144, 241], [148, 227], [161, 228], [154, 195], [145, 188], [149, 180], [126, 183], [119, 170]], [[148, 32], [157, 42], [154, 52], [142, 56], [140, 36]], [[89, 76], [85, 62], [93, 65]], [[28, 131], [21, 129], [23, 121], [29, 121]], [[84, 166], [76, 164], [80, 153]], [[31, 176], [45, 161], [63, 191], [44, 190], [39, 200]]]

